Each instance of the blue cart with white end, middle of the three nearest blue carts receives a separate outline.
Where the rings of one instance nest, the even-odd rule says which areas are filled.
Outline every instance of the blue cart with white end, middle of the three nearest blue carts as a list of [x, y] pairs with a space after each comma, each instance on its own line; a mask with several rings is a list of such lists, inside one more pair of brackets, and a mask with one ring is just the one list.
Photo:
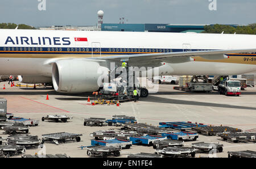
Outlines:
[[154, 141], [156, 140], [167, 140], [167, 137], [162, 136], [140, 136], [140, 137], [130, 137], [130, 141], [133, 142], [133, 144], [139, 144], [139, 145], [148, 145], [152, 146], [154, 144]]

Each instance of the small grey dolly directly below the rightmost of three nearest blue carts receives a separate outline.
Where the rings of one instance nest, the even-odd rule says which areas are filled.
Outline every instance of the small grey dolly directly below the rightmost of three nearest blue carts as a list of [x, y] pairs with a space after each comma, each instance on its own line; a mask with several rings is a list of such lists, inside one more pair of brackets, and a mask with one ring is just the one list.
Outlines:
[[154, 149], [163, 149], [164, 147], [172, 147], [172, 146], [183, 146], [184, 141], [180, 140], [156, 140], [153, 142]]

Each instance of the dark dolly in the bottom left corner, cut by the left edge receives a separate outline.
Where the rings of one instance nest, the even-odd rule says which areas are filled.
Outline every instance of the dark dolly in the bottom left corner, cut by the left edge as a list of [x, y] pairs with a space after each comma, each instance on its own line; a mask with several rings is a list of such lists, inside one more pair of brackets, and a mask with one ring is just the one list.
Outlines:
[[19, 155], [26, 153], [24, 146], [18, 145], [0, 145], [0, 156], [11, 157], [13, 155]]

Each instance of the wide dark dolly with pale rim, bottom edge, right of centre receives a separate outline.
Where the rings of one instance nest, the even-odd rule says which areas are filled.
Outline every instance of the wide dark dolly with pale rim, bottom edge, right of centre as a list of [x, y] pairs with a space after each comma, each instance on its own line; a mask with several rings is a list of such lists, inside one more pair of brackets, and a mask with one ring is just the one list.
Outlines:
[[197, 149], [192, 147], [166, 147], [163, 149], [156, 149], [157, 154], [162, 154], [164, 157], [191, 157], [196, 156]]

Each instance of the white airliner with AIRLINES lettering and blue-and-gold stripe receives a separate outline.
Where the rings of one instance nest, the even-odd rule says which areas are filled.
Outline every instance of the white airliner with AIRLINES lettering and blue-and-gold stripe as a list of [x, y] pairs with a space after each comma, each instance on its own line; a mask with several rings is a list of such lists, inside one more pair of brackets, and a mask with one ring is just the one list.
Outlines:
[[[0, 74], [52, 82], [57, 92], [97, 91], [111, 63], [157, 75], [256, 71], [256, 35], [0, 29]], [[156, 74], [155, 74], [156, 75]]]

